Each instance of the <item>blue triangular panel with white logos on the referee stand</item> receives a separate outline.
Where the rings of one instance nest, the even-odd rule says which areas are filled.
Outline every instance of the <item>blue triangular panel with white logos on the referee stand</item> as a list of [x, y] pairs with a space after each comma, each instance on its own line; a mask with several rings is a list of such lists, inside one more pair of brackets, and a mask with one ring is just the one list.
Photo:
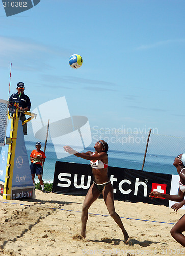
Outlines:
[[12, 187], [33, 186], [30, 164], [22, 129], [22, 121], [19, 120], [17, 141], [13, 168]]

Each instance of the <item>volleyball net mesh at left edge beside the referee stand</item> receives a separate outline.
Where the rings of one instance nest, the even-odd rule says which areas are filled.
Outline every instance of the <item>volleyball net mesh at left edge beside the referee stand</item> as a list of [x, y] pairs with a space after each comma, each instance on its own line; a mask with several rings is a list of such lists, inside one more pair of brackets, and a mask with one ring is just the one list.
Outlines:
[[0, 146], [4, 146], [8, 114], [8, 101], [0, 99]]

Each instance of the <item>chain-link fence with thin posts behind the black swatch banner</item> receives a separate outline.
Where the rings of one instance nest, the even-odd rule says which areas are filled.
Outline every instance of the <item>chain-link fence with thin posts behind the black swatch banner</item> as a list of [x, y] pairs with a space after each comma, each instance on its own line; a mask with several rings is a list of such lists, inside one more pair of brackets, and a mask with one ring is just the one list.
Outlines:
[[[7, 104], [5, 105], [7, 111]], [[1, 113], [3, 113], [3, 111], [1, 111]], [[39, 136], [37, 136], [37, 138], [34, 137], [32, 121], [27, 123], [28, 135], [24, 136], [29, 160], [30, 154], [32, 150], [35, 149], [37, 141], [41, 141], [42, 150], [44, 151], [47, 126], [44, 126], [43, 123], [49, 121], [44, 118], [42, 120], [39, 119], [39, 115], [34, 120], [36, 120], [35, 125], [38, 126], [38, 129], [36, 130]], [[67, 120], [67, 122], [65, 120]], [[51, 123], [51, 125], [49, 125], [45, 151], [46, 160], [43, 166], [44, 182], [52, 183], [56, 161], [89, 164], [89, 161], [68, 153], [66, 153], [64, 157], [59, 158], [60, 154], [58, 153], [64, 152], [64, 145], [67, 144], [73, 147], [73, 145], [77, 145], [80, 140], [82, 142], [81, 144], [84, 144], [84, 141], [86, 140], [86, 147], [84, 146], [83, 148], [81, 146], [79, 151], [82, 151], [82, 148], [83, 151], [94, 151], [95, 143], [98, 140], [105, 140], [109, 145], [109, 166], [136, 170], [142, 170], [143, 167], [145, 172], [176, 174], [176, 168], [173, 166], [174, 159], [177, 155], [185, 153], [185, 137], [161, 135], [158, 134], [158, 129], [156, 128], [151, 129], [149, 137], [150, 129], [147, 129], [146, 127], [143, 129], [131, 129], [125, 126], [121, 126], [118, 129], [98, 126], [90, 127], [88, 126], [88, 119], [80, 116], [76, 116], [75, 118], [73, 116], [73, 121], [75, 121], [76, 126], [74, 125], [74, 122], [73, 126], [70, 126], [69, 124], [71, 120], [71, 118], [67, 118], [64, 119], [64, 122], [63, 120], [60, 120], [60, 122]], [[84, 125], [83, 127], [82, 123]], [[54, 126], [55, 129], [53, 129]], [[5, 127], [4, 123], [2, 124], [2, 127]], [[40, 129], [40, 127], [42, 127], [42, 129]], [[50, 133], [51, 130], [52, 133]], [[78, 136], [75, 136], [77, 135], [77, 132]], [[63, 135], [62, 140], [60, 137], [61, 133]], [[42, 137], [42, 139], [40, 139], [40, 137]], [[58, 140], [59, 137], [60, 140]], [[65, 138], [64, 140], [63, 137]], [[52, 138], [55, 138], [55, 144]], [[147, 141], [149, 141], [148, 145]]]

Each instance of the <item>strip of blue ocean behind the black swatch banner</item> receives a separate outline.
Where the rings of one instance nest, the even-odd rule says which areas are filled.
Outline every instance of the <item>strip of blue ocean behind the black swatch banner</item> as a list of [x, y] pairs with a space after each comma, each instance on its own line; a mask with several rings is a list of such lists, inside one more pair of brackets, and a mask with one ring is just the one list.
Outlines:
[[[33, 141], [25, 141], [27, 148], [28, 158], [30, 160], [30, 153], [34, 149]], [[44, 150], [44, 146], [42, 146]], [[61, 150], [63, 150], [61, 146]], [[94, 148], [86, 148], [86, 151], [94, 151]], [[70, 163], [82, 163], [89, 164], [88, 160], [69, 155], [68, 157], [57, 159], [54, 146], [52, 143], [47, 143], [46, 146], [46, 160], [43, 168], [43, 180], [44, 182], [52, 183], [55, 172], [56, 161], [70, 162]], [[128, 151], [108, 151], [108, 166], [121, 167], [127, 169], [141, 170], [144, 159], [144, 153], [128, 152]], [[177, 174], [176, 168], [173, 166], [174, 156], [154, 155], [147, 154], [143, 171], [165, 173], [165, 174]], [[35, 182], [37, 182], [37, 178]]]

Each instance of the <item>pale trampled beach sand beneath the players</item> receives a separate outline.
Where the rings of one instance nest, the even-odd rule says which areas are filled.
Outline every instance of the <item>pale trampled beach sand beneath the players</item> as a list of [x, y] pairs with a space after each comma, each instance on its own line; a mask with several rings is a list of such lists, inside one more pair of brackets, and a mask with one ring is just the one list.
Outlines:
[[86, 238], [82, 239], [84, 197], [39, 190], [35, 193], [36, 199], [0, 198], [1, 255], [185, 254], [170, 235], [171, 223], [176, 223], [184, 210], [174, 212], [166, 206], [115, 201], [116, 212], [130, 236], [129, 244], [125, 244], [103, 199], [90, 207]]

